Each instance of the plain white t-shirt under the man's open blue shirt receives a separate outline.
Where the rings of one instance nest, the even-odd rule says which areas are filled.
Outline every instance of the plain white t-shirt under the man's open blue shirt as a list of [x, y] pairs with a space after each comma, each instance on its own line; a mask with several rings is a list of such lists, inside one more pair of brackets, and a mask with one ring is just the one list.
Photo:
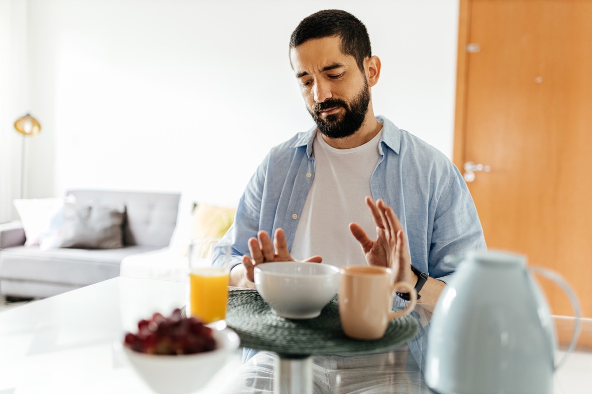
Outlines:
[[365, 197], [372, 197], [370, 178], [380, 157], [381, 136], [382, 131], [361, 146], [336, 149], [317, 131], [314, 179], [294, 236], [292, 258], [320, 255], [324, 263], [338, 267], [366, 264], [349, 223], [358, 223], [372, 240], [376, 239], [376, 225]]

